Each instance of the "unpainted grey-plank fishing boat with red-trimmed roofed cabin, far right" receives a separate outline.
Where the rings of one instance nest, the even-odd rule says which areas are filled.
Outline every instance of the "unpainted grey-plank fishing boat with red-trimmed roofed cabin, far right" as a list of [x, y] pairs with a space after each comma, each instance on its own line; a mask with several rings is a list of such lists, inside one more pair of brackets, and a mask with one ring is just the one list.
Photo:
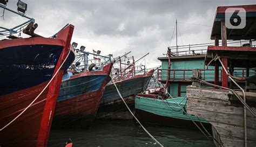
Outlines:
[[[228, 11], [235, 9], [245, 11], [239, 12], [240, 16]], [[241, 23], [246, 25], [241, 29], [228, 28], [224, 17], [227, 12], [230, 15], [234, 13], [230, 22], [245, 16], [241, 21], [246, 21]], [[211, 33], [215, 45], [208, 46], [205, 55], [205, 65], [215, 66], [214, 84], [205, 81], [200, 77], [200, 71], [194, 69], [193, 85], [186, 89], [187, 113], [203, 117], [212, 124], [212, 137], [216, 146], [256, 146], [256, 87], [253, 83], [235, 82], [227, 74], [230, 71], [234, 75], [234, 69], [242, 67], [246, 68], [246, 72], [240, 77], [255, 75], [254, 72], [251, 74], [250, 69], [256, 67], [256, 47], [252, 43], [256, 37], [255, 18], [256, 5], [217, 8]], [[219, 46], [219, 39], [222, 46]], [[227, 46], [227, 40], [246, 40], [249, 44]], [[202, 87], [202, 84], [208, 87]]]

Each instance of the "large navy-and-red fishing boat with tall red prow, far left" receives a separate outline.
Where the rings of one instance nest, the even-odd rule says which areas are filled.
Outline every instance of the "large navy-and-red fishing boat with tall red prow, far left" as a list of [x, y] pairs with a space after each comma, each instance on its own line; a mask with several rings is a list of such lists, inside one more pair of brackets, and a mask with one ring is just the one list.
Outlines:
[[69, 66], [65, 64], [72, 60], [73, 25], [56, 38], [44, 38], [35, 37], [37, 24], [28, 23], [23, 32], [32, 29], [30, 38], [11, 34], [12, 39], [0, 41], [1, 146], [46, 146], [64, 69]]

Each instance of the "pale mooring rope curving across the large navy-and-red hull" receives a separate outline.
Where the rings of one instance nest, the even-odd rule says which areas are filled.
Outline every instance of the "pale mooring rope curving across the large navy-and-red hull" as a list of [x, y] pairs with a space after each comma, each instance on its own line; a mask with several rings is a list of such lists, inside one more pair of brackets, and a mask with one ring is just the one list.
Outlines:
[[48, 84], [44, 87], [44, 89], [42, 90], [41, 93], [38, 94], [38, 96], [29, 104], [29, 106], [27, 106], [19, 115], [17, 115], [12, 121], [10, 121], [8, 124], [6, 124], [3, 128], [0, 129], [0, 131], [2, 131], [3, 129], [5, 129], [6, 127], [8, 127], [12, 122], [14, 122], [15, 120], [17, 120], [17, 118], [19, 116], [21, 116], [37, 99], [39, 96], [41, 96], [41, 94], [44, 92], [44, 90], [50, 85], [51, 81], [55, 78], [55, 76], [57, 75], [57, 73], [59, 72], [60, 68], [62, 68], [62, 66], [64, 65], [66, 59], [68, 59], [70, 54], [70, 50], [68, 55], [66, 56], [65, 60], [62, 62], [62, 64], [59, 66], [57, 72], [52, 76], [51, 80], [48, 82]]

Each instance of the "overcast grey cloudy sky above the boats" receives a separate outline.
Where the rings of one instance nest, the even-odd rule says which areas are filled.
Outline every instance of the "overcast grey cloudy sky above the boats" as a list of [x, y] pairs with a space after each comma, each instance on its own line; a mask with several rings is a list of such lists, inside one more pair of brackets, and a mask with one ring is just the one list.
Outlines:
[[[72, 41], [86, 46], [86, 51], [101, 50], [114, 57], [132, 51], [135, 58], [146, 57], [147, 67], [160, 65], [167, 46], [176, 45], [172, 38], [176, 18], [178, 45], [209, 43], [211, 25], [217, 6], [255, 4], [240, 1], [165, 1], [165, 0], [23, 0], [26, 15], [35, 18], [35, 31], [45, 37], [58, 32], [67, 23], [75, 26]], [[17, 0], [9, 0], [8, 8], [17, 9]], [[2, 15], [0, 9], [0, 16]], [[11, 27], [26, 19], [5, 11], [0, 26]], [[188, 23], [188, 24], [184, 24]], [[200, 24], [200, 25], [192, 25]]]

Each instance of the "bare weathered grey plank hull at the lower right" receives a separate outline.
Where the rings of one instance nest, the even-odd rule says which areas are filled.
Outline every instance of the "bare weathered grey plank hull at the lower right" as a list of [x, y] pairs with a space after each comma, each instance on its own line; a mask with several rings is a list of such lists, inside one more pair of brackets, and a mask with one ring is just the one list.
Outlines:
[[[241, 92], [238, 94], [242, 97]], [[228, 90], [187, 87], [187, 113], [212, 124], [216, 146], [244, 146], [244, 107]], [[256, 111], [255, 93], [246, 92], [246, 102]], [[247, 146], [256, 146], [256, 117], [247, 110]]]

